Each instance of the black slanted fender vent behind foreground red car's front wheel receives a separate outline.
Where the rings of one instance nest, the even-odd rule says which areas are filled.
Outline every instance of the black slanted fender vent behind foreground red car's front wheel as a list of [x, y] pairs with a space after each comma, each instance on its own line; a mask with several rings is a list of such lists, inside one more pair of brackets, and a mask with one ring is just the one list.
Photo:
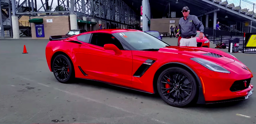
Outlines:
[[151, 65], [155, 63], [155, 60], [148, 59], [146, 60], [139, 68], [138, 70], [133, 74], [135, 77], [141, 77]]

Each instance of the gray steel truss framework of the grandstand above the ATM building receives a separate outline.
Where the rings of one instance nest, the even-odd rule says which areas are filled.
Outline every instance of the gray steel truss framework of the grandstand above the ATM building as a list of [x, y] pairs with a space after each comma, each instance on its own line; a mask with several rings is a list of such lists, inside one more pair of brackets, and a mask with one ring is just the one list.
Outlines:
[[[26, 11], [26, 7], [30, 9]], [[140, 25], [140, 13], [136, 13], [122, 0], [17, 0], [16, 7], [12, 9], [14, 8], [14, 15], [37, 16], [37, 13], [46, 13], [47, 16], [75, 13], [129, 26]]]

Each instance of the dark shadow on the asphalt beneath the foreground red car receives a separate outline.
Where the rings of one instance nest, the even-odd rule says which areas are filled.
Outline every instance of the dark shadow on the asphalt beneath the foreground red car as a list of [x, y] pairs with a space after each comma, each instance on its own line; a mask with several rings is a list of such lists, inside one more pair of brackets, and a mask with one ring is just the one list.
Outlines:
[[[132, 89], [127, 89], [127, 88], [122, 88], [122, 87], [117, 87], [113, 86], [110, 84], [106, 84], [103, 82], [98, 82], [98, 81], [92, 81], [92, 80], [87, 80], [87, 79], [79, 79], [76, 78], [74, 80], [74, 83], [76, 85], [82, 86], [82, 87], [92, 87], [92, 88], [98, 88], [98, 89], [106, 89], [106, 90], [111, 90], [116, 92], [117, 94], [128, 94], [131, 96], [140, 96], [140, 97], [145, 97], [147, 99], [153, 100], [153, 101], [158, 101], [159, 103], [169, 105], [165, 103], [162, 98], [159, 96], [159, 94], [149, 94], [146, 92], [141, 92], [137, 90], [132, 90]], [[249, 100], [242, 100], [242, 101], [232, 101], [232, 102], [225, 102], [225, 103], [214, 103], [214, 104], [192, 104], [187, 107], [182, 107], [190, 110], [196, 110], [196, 111], [223, 111], [227, 109], [233, 109], [234, 107], [236, 109], [239, 108], [244, 108], [246, 104], [249, 104]], [[171, 107], [171, 106], [170, 106]]]

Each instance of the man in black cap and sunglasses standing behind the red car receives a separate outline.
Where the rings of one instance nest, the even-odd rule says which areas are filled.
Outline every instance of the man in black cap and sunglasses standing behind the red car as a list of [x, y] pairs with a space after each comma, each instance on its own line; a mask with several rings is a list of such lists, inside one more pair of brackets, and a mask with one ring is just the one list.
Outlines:
[[179, 31], [176, 34], [181, 35], [180, 46], [197, 46], [196, 34], [197, 27], [199, 27], [199, 39], [203, 38], [204, 26], [195, 15], [189, 14], [190, 10], [187, 6], [182, 8], [183, 17], [179, 20]]

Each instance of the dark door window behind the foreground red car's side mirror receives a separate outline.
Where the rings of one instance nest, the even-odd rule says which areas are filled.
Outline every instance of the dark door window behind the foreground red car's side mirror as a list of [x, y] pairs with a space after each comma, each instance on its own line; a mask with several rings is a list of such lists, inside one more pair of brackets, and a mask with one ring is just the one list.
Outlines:
[[91, 44], [101, 47], [105, 44], [114, 44], [118, 49], [124, 50], [122, 44], [111, 34], [95, 33], [92, 35]]

